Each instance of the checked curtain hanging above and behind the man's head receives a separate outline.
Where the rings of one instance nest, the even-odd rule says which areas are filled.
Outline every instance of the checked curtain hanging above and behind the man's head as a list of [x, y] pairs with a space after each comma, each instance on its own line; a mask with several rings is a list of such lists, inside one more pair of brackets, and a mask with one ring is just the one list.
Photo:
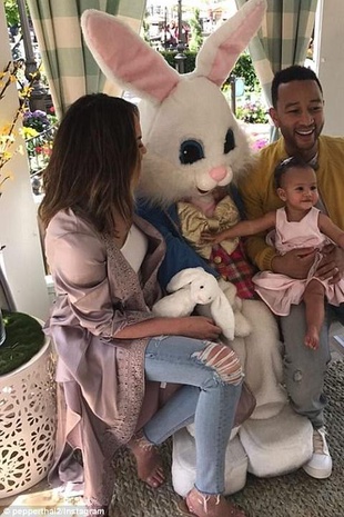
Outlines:
[[[235, 0], [242, 7], [246, 0]], [[266, 0], [263, 24], [250, 43], [250, 53], [267, 106], [276, 71], [303, 64], [314, 28], [317, 0]]]

